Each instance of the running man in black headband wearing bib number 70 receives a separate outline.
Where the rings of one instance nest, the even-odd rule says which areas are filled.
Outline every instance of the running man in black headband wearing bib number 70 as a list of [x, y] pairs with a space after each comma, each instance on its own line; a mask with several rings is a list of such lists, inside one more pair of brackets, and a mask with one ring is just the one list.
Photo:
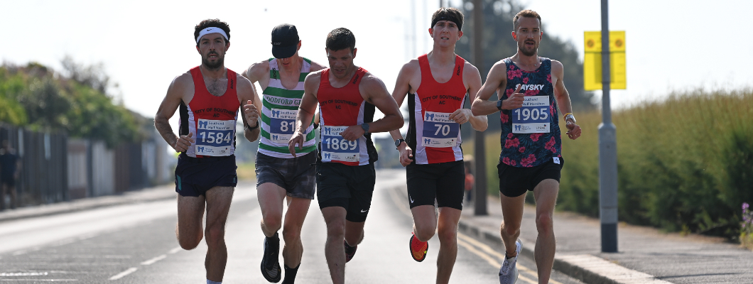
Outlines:
[[[460, 125], [471, 122], [471, 127], [479, 131], [487, 127], [486, 116], [471, 115], [471, 109], [463, 108], [466, 93], [471, 101], [475, 98], [481, 75], [455, 53], [455, 44], [463, 35], [462, 25], [463, 14], [456, 8], [434, 12], [428, 29], [434, 47], [403, 66], [392, 92], [398, 105], [406, 94], [409, 96], [407, 137], [404, 140], [400, 130], [390, 134], [407, 172], [408, 201], [413, 213], [410, 255], [423, 261], [427, 241], [438, 231], [437, 283], [450, 282], [458, 253], [458, 222], [465, 192]], [[434, 213], [434, 200], [439, 218]]]

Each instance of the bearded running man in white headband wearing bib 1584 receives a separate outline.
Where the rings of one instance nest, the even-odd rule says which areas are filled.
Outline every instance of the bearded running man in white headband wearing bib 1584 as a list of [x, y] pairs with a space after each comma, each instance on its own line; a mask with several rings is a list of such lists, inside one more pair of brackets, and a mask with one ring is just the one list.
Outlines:
[[[261, 104], [253, 84], [226, 69], [224, 56], [230, 47], [230, 26], [220, 20], [203, 20], [194, 28], [201, 65], [172, 81], [154, 127], [181, 153], [175, 168], [178, 192], [178, 225], [175, 235], [183, 249], [194, 249], [206, 234], [206, 282], [221, 283], [227, 262], [224, 227], [237, 183], [235, 151], [238, 110], [243, 108], [244, 136], [259, 135]], [[245, 105], [243, 104], [245, 103]], [[180, 108], [178, 135], [169, 118]], [[206, 207], [206, 230], [202, 230]]]

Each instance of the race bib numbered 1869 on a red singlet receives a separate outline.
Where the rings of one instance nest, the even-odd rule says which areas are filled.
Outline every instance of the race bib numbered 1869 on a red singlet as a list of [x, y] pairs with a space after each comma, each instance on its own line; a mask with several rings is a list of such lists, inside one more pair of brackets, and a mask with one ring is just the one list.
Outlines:
[[361, 161], [361, 139], [348, 141], [340, 133], [348, 127], [322, 127], [322, 159], [339, 160], [342, 162]]

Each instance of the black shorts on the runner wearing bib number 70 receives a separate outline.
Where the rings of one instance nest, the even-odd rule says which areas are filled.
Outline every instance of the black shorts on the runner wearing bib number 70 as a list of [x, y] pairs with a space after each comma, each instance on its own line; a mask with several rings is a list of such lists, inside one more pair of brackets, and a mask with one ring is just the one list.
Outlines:
[[425, 165], [411, 163], [405, 167], [405, 172], [410, 208], [434, 206], [436, 199], [439, 207], [463, 209], [465, 165], [462, 160]]

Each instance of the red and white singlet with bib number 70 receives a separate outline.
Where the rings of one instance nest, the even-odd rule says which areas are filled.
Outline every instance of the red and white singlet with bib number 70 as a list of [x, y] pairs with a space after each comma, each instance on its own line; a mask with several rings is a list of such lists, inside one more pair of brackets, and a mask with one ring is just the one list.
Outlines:
[[437, 83], [431, 75], [426, 54], [419, 56], [421, 84], [408, 94], [410, 125], [406, 142], [413, 148], [413, 163], [446, 163], [463, 159], [460, 124], [448, 119], [463, 107], [468, 91], [463, 84], [465, 60], [456, 55], [453, 77]]

